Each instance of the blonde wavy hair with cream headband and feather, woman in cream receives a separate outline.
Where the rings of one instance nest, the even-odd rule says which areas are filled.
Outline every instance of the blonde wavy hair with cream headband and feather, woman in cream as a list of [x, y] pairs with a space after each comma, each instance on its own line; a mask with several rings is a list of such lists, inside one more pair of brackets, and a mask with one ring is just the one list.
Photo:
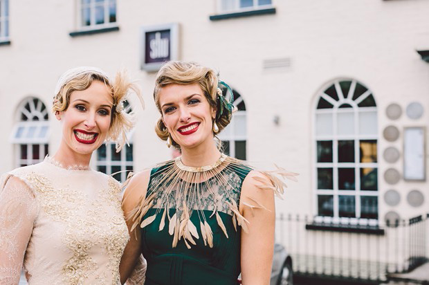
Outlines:
[[[118, 71], [114, 82], [111, 82], [104, 71], [99, 68], [80, 66], [66, 71], [60, 77], [55, 88], [53, 98], [53, 113], [66, 111], [70, 104], [70, 95], [73, 91], [83, 91], [91, 86], [92, 82], [98, 80], [109, 86], [113, 98], [113, 109], [111, 110], [111, 122], [106, 140], [116, 143], [116, 152], [119, 152], [127, 143], [127, 132], [134, 127], [134, 113], [123, 111], [123, 101], [127, 100], [127, 94], [134, 91], [138, 99], [143, 103], [140, 89], [135, 82], [131, 82], [125, 70]], [[118, 111], [116, 111], [119, 109]]]

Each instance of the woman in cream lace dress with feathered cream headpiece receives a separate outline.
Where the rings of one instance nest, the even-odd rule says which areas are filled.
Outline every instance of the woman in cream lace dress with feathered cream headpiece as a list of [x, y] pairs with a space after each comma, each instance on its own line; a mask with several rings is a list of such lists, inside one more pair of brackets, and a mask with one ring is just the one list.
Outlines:
[[[0, 181], [0, 284], [118, 284], [129, 240], [120, 208], [120, 185], [89, 168], [107, 140], [117, 151], [131, 128], [123, 111], [129, 89], [124, 73], [114, 82], [98, 68], [73, 68], [55, 89], [53, 112], [61, 143], [42, 163], [20, 167]], [[140, 98], [140, 96], [138, 96]]]

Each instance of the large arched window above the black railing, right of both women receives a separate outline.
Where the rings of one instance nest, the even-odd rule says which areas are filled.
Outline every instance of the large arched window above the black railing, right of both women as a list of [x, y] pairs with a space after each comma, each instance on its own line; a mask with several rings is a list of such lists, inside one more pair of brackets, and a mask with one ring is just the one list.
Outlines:
[[356, 80], [318, 94], [314, 118], [318, 216], [378, 219], [377, 109]]

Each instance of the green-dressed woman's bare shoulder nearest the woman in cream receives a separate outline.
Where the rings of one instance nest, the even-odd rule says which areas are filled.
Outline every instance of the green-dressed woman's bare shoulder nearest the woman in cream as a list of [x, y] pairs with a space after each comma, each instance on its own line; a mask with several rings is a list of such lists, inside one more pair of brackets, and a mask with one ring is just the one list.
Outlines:
[[150, 169], [138, 172], [131, 177], [122, 199], [122, 208], [124, 210], [134, 209], [141, 199], [146, 196], [149, 180]]

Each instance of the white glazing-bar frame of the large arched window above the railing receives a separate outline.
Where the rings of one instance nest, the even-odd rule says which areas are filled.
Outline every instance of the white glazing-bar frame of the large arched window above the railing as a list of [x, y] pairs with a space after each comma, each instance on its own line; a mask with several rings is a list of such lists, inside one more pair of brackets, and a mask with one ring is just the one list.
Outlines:
[[[340, 82], [344, 81], [350, 81], [352, 82], [349, 91], [347, 93], [347, 96], [343, 95], [343, 91], [340, 87]], [[355, 100], [353, 100], [353, 94], [356, 89], [356, 84], [360, 84], [363, 87], [367, 89], [363, 94], [359, 95]], [[329, 95], [325, 93], [327, 89], [329, 89], [331, 86], [335, 86], [336, 93], [338, 95], [338, 101], [334, 100], [334, 98], [331, 98]], [[313, 178], [312, 178], [312, 184], [313, 184], [313, 210], [316, 216], [316, 220], [318, 222], [322, 223], [350, 223], [350, 221], [354, 221], [356, 223], [374, 223], [374, 221], [378, 221], [380, 219], [379, 217], [379, 210], [380, 210], [380, 189], [379, 189], [379, 180], [380, 180], [380, 173], [379, 173], [379, 138], [378, 138], [378, 129], [376, 131], [376, 134], [368, 135], [368, 134], [358, 134], [359, 132], [359, 115], [360, 113], [365, 112], [373, 112], [376, 114], [376, 124], [378, 125], [378, 110], [377, 107], [359, 107], [358, 104], [360, 102], [363, 102], [365, 98], [367, 98], [369, 95], [372, 95], [374, 98], [374, 94], [370, 89], [367, 88], [367, 86], [360, 81], [354, 79], [354, 78], [347, 78], [347, 77], [340, 77], [336, 80], [331, 80], [318, 91], [316, 99], [314, 100], [313, 104], [313, 128], [312, 128], [312, 149], [313, 149], [313, 155], [312, 155], [312, 164], [313, 164]], [[346, 98], [345, 98], [346, 97]], [[325, 99], [327, 102], [333, 105], [332, 108], [329, 109], [317, 109], [318, 102], [320, 98]], [[375, 100], [375, 99], [374, 99]], [[352, 108], [339, 108], [343, 104], [350, 104]], [[354, 113], [354, 134], [351, 135], [338, 135], [337, 134], [337, 117], [338, 113], [348, 113], [350, 112], [350, 109], [353, 110]], [[332, 114], [332, 134], [331, 135], [325, 135], [322, 136], [320, 134], [317, 134], [317, 115], [323, 114], [323, 113], [329, 113]], [[377, 127], [378, 128], [378, 127]], [[331, 141], [332, 142], [332, 162], [331, 163], [319, 163], [318, 162], [318, 141]], [[354, 158], [355, 161], [353, 163], [340, 163], [338, 162], [338, 140], [354, 140]], [[361, 140], [376, 140], [376, 154], [377, 154], [377, 160], [376, 163], [361, 163], [360, 162], [360, 141]], [[333, 187], [329, 190], [319, 190], [318, 189], [318, 168], [331, 168], [332, 169], [332, 183]], [[354, 190], [339, 190], [338, 187], [338, 169], [339, 168], [354, 168]], [[377, 190], [361, 190], [360, 185], [360, 169], [362, 168], [372, 168], [377, 169]], [[319, 215], [319, 209], [318, 209], [318, 196], [319, 195], [329, 195], [333, 196], [333, 217], [330, 216], [320, 216]], [[339, 205], [339, 197], [340, 196], [354, 196], [354, 210], [355, 210], [355, 217], [340, 217], [340, 205]], [[363, 196], [376, 196], [377, 197], [377, 217], [378, 219], [369, 219], [369, 218], [361, 218], [362, 214], [362, 207], [361, 207], [361, 197]]]

